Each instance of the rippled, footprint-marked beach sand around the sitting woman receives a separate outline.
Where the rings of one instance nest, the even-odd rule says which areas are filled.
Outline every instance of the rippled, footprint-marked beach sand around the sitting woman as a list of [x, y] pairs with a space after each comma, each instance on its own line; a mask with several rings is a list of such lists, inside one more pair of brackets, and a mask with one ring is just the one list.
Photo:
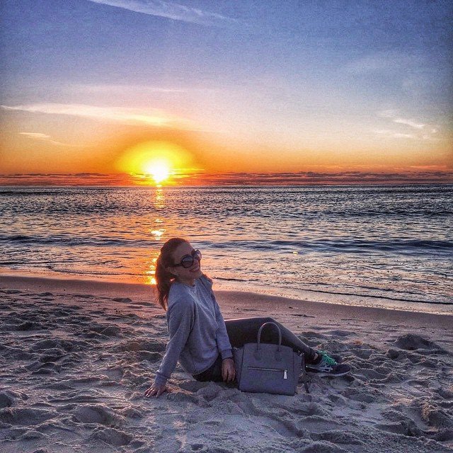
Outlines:
[[276, 396], [178, 367], [144, 398], [167, 341], [149, 287], [2, 276], [1, 452], [453, 452], [453, 316], [216, 294], [352, 373]]

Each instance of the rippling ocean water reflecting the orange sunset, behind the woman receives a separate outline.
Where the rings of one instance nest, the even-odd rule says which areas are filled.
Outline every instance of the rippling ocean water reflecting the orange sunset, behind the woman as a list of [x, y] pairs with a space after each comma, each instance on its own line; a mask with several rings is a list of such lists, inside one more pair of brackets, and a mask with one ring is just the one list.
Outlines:
[[0, 272], [151, 283], [173, 236], [218, 289], [453, 312], [453, 185], [1, 187]]

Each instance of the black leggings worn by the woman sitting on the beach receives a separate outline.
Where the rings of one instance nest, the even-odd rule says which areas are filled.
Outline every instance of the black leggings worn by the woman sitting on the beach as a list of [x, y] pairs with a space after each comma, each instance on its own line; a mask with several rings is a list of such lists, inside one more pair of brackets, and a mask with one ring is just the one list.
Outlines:
[[[300, 338], [289, 331], [285, 326], [273, 318], [239, 318], [226, 319], [225, 326], [228, 333], [229, 342], [234, 348], [241, 348], [246, 343], [256, 343], [258, 329], [264, 323], [273, 322], [277, 324], [282, 333], [282, 345], [289, 346], [295, 352], [304, 354], [305, 362], [311, 363], [316, 357], [316, 350], [306, 345]], [[277, 343], [278, 334], [273, 326], [266, 326], [261, 332], [263, 343]], [[219, 355], [214, 364], [206, 371], [194, 376], [197, 381], [222, 381], [222, 357]]]

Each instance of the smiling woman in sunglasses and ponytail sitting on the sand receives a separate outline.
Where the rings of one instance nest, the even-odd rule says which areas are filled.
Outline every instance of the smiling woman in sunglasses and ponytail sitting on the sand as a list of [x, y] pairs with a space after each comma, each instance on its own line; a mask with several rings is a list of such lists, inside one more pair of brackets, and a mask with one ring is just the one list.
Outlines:
[[[212, 292], [212, 281], [202, 273], [201, 253], [185, 239], [169, 239], [156, 262], [158, 301], [167, 310], [170, 341], [159, 371], [145, 396], [168, 391], [167, 379], [180, 365], [197, 381], [232, 382], [236, 376], [231, 346], [255, 343], [258, 329], [271, 318], [242, 318], [224, 321]], [[306, 371], [322, 376], [342, 376], [349, 365], [339, 365], [326, 352], [310, 348], [277, 323], [282, 345], [303, 354]], [[263, 343], [275, 343], [273, 329], [263, 331]]]

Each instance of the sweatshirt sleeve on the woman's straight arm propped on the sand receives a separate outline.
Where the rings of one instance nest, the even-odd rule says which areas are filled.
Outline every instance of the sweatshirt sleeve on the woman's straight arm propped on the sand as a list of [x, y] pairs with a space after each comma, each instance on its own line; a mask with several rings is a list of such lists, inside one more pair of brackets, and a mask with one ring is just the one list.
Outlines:
[[170, 379], [171, 373], [176, 368], [180, 353], [183, 351], [185, 343], [193, 328], [194, 305], [190, 299], [180, 299], [167, 311], [168, 332], [170, 341], [166, 345], [165, 355], [162, 359], [159, 371], [156, 372], [154, 384], [164, 385]]

